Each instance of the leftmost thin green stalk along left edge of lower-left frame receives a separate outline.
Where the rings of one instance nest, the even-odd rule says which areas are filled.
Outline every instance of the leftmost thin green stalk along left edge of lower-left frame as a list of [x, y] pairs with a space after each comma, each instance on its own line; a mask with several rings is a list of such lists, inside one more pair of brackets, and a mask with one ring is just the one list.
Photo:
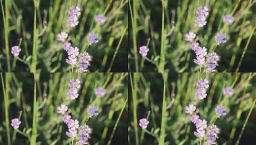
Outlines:
[[[8, 73], [5, 73], [5, 83], [6, 86], [8, 85]], [[8, 90], [5, 90], [4, 83], [3, 83], [3, 75], [1, 73], [1, 80], [2, 80], [2, 87], [3, 87], [3, 98], [4, 98], [4, 114], [5, 114], [5, 125], [6, 125], [6, 133], [7, 133], [7, 141], [8, 145], [11, 145], [11, 136], [10, 136], [10, 128], [9, 128], [9, 114], [8, 114], [8, 108], [9, 108], [9, 95]], [[8, 89], [8, 88], [6, 88]]]

